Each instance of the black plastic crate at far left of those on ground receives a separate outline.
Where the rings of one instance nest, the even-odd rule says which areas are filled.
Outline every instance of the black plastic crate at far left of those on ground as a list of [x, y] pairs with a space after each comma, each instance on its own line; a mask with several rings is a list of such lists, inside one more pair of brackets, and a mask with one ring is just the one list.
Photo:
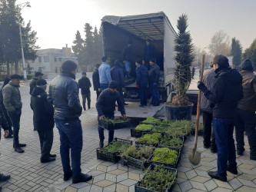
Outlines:
[[[132, 145], [132, 141], [128, 141], [128, 140], [125, 140], [125, 139], [119, 139], [119, 138], [115, 138], [113, 142], [115, 141], [121, 141], [125, 144], [131, 144]], [[113, 143], [111, 142], [111, 144]], [[108, 144], [110, 145], [110, 144]], [[105, 147], [108, 147], [105, 146]], [[101, 159], [101, 160], [105, 160], [105, 161], [111, 161], [111, 162], [118, 162], [120, 160], [120, 153], [119, 152], [115, 152], [115, 153], [112, 153], [112, 152], [108, 152], [108, 151], [104, 151], [104, 148], [98, 148], [96, 150], [97, 152], [97, 159]]]

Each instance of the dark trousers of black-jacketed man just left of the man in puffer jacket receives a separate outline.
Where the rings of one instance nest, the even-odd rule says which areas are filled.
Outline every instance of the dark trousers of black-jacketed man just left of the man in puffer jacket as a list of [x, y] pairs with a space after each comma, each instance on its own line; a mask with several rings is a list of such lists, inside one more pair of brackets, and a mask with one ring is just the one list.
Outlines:
[[38, 136], [40, 140], [41, 148], [41, 161], [48, 159], [50, 152], [52, 150], [53, 143], [53, 129], [47, 131], [39, 131]]

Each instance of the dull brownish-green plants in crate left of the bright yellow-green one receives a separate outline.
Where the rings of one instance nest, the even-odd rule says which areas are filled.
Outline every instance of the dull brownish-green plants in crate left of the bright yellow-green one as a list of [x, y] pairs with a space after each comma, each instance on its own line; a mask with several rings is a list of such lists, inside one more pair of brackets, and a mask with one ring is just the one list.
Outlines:
[[130, 156], [137, 159], [138, 161], [145, 161], [151, 157], [153, 151], [153, 147], [136, 147], [135, 145], [132, 145], [131, 147], [128, 147], [128, 149], [123, 154], [121, 154], [121, 156], [125, 157], [126, 159], [128, 159]]

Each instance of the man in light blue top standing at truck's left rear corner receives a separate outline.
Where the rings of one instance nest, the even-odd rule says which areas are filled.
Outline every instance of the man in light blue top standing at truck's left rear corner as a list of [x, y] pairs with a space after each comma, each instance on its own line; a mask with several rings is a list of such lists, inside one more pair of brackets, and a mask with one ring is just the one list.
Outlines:
[[108, 65], [109, 59], [107, 57], [101, 58], [102, 64], [98, 68], [98, 74], [100, 78], [101, 91], [108, 88], [108, 84], [111, 81], [110, 66]]

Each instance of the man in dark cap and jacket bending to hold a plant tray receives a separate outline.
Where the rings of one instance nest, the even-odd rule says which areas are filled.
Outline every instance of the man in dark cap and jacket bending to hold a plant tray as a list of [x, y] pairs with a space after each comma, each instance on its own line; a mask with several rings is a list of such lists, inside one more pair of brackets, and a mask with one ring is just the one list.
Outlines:
[[[121, 101], [120, 94], [117, 91], [118, 84], [116, 81], [109, 83], [109, 88], [102, 91], [98, 97], [96, 108], [98, 111], [98, 121], [102, 121], [104, 118], [114, 119], [115, 102], [118, 102], [118, 109], [121, 112], [123, 118], [126, 119], [125, 107], [123, 101]], [[99, 147], [104, 146], [104, 128], [98, 126], [98, 135], [100, 138]], [[114, 130], [108, 130], [108, 144], [113, 141]]]

